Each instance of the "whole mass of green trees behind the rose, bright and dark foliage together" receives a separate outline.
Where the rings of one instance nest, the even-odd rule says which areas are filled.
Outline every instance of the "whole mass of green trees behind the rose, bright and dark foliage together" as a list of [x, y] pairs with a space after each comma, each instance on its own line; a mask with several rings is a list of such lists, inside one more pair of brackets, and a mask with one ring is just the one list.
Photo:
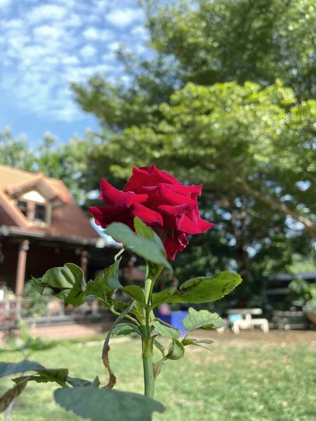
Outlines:
[[[103, 175], [121, 187], [132, 164], [152, 162], [203, 182], [204, 212], [222, 222], [216, 238], [228, 247], [209, 252], [206, 237], [192, 244], [183, 254], [189, 270], [213, 270], [229, 255], [246, 279], [251, 266], [257, 274], [287, 267], [304, 243], [302, 224], [316, 237], [315, 5], [144, 3], [154, 58], [119, 51], [128, 85], [100, 75], [72, 84], [103, 127], [90, 151], [91, 186]], [[266, 267], [256, 262], [263, 251]]]

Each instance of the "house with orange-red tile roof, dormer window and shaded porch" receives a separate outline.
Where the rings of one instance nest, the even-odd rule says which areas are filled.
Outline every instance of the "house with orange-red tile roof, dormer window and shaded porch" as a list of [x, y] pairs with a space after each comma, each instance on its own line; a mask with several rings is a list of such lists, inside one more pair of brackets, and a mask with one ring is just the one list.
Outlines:
[[0, 283], [21, 295], [31, 276], [67, 262], [92, 277], [106, 266], [105, 259], [90, 265], [94, 251], [112, 260], [117, 248], [105, 244], [61, 180], [0, 165]]

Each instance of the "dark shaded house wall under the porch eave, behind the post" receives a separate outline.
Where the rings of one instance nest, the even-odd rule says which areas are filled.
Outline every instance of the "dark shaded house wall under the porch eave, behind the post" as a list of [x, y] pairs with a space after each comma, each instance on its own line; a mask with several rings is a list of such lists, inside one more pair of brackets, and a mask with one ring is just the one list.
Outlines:
[[[5, 281], [8, 288], [15, 291], [20, 244], [8, 238], [0, 239], [0, 243], [4, 254], [4, 262], [0, 264], [0, 281]], [[25, 282], [31, 279], [31, 276], [40, 278], [51, 267], [63, 266], [68, 262], [80, 266], [80, 260], [81, 256], [76, 253], [76, 248], [57, 247], [56, 245], [44, 246], [36, 241], [29, 241]]]

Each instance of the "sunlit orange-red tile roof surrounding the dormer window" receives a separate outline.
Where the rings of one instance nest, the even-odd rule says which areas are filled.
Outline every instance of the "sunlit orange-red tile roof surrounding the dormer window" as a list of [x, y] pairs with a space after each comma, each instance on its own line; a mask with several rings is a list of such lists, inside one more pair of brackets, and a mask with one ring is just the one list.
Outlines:
[[[12, 192], [22, 192], [31, 186], [36, 190], [39, 185], [41, 189], [48, 189], [50, 197], [55, 196], [62, 202], [61, 206], [53, 207], [49, 227], [39, 227], [27, 220], [9, 195]], [[100, 238], [91, 226], [88, 216], [74, 201], [61, 180], [48, 178], [43, 173], [33, 174], [0, 165], [0, 225], [8, 225], [8, 222], [29, 231], [40, 230], [62, 237], [75, 236], [96, 240]]]

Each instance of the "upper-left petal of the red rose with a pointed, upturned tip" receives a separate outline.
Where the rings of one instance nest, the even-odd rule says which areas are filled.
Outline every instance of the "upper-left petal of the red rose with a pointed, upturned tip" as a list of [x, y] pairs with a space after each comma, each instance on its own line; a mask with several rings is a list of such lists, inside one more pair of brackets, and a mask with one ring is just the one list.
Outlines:
[[100, 199], [103, 200], [107, 205], [115, 206], [116, 208], [129, 208], [133, 203], [142, 203], [146, 201], [147, 194], [133, 194], [121, 192], [115, 189], [110, 182], [107, 182], [104, 178], [101, 179], [100, 183]]

